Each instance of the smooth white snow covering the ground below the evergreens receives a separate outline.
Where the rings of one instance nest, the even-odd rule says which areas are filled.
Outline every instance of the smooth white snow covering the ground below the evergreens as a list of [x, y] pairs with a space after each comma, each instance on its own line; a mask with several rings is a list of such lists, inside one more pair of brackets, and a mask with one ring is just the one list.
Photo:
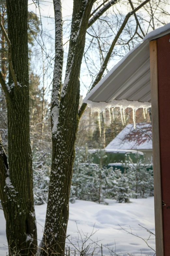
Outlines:
[[[116, 203], [116, 200], [107, 200], [108, 205], [99, 205], [94, 202], [77, 200], [75, 204], [70, 203], [70, 215], [67, 234], [76, 237], [77, 226], [84, 233], [91, 233], [98, 230], [92, 240], [102, 240], [99, 244], [114, 248], [116, 253], [126, 256], [128, 253], [134, 256], [154, 255], [146, 243], [131, 234], [127, 234], [123, 229], [131, 231], [143, 238], [148, 238], [149, 233], [138, 224], [146, 227], [154, 233], [154, 200], [153, 197], [146, 199], [131, 199], [131, 204]], [[45, 223], [47, 205], [35, 206], [38, 239], [42, 238], [42, 230]], [[120, 226], [119, 226], [119, 225]], [[0, 256], [5, 256], [7, 252], [7, 242], [5, 235], [5, 218], [0, 210]], [[131, 228], [131, 230], [130, 230]], [[149, 245], [155, 248], [154, 236], [149, 240]], [[141, 254], [142, 251], [142, 254]], [[104, 254], [108, 254], [104, 249]]]

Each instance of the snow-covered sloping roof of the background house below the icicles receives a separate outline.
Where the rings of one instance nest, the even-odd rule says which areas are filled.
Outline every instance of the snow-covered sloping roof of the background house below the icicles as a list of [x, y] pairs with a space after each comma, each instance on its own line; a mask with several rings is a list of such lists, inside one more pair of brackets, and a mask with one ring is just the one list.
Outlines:
[[133, 124], [127, 125], [107, 146], [113, 149], [152, 149], [152, 126], [150, 123], [138, 123], [136, 129]]

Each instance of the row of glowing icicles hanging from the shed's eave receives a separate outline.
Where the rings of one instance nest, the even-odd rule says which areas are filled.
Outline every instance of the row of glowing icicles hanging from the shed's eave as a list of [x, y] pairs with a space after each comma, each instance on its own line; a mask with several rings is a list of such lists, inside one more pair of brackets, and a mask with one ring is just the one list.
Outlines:
[[[112, 123], [111, 110], [112, 110], [112, 114], [113, 114], [113, 121], [115, 121], [114, 108], [109, 108], [110, 124]], [[136, 128], [136, 110], [137, 109], [133, 108], [134, 128]], [[120, 107], [120, 113], [121, 113], [122, 125], [125, 125], [125, 122], [126, 122], [126, 119], [125, 119], [125, 108]], [[147, 113], [147, 109], [143, 108], [143, 114], [144, 114], [144, 118], [145, 119], [146, 119], [146, 113]], [[101, 134], [102, 134], [101, 112], [98, 111], [98, 114], [99, 114], [99, 130], [100, 130], [100, 137], [101, 137]], [[91, 112], [91, 115], [92, 115], [92, 112]]]

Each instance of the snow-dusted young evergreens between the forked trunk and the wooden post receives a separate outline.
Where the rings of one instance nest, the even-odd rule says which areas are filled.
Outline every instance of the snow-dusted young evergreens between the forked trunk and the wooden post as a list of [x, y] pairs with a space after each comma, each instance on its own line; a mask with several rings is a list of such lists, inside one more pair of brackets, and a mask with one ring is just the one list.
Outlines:
[[130, 202], [132, 197], [153, 196], [153, 170], [149, 170], [149, 163], [138, 158], [133, 163], [126, 158], [122, 163], [125, 173], [113, 167], [106, 168], [102, 160], [106, 153], [96, 151], [98, 162], [93, 163], [92, 154], [87, 147], [77, 148], [73, 167], [70, 202], [76, 199], [104, 203], [106, 198], [117, 199], [118, 202]]

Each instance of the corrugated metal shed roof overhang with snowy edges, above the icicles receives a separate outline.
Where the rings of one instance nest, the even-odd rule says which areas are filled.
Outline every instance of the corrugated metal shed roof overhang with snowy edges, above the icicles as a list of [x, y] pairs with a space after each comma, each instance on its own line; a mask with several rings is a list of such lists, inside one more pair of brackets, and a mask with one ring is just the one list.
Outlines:
[[151, 31], [100, 80], [83, 100], [92, 112], [151, 106], [149, 41], [169, 33], [170, 23]]

